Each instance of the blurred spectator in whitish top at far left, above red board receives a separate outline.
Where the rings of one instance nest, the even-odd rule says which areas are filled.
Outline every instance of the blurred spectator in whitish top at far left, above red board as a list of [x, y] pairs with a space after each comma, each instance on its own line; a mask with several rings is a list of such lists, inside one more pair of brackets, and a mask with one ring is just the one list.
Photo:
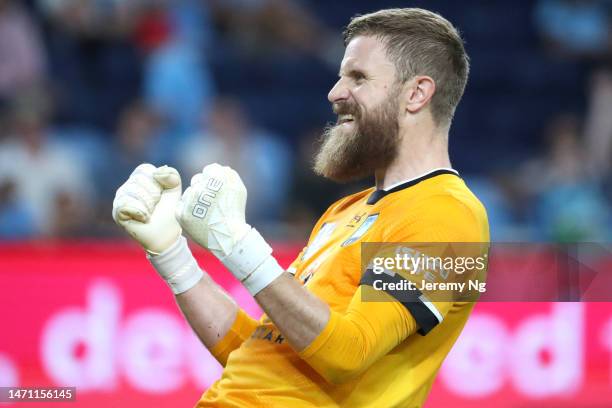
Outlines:
[[[60, 197], [83, 211], [91, 207], [92, 183], [88, 171], [68, 151], [53, 144], [47, 115], [31, 101], [15, 102], [11, 134], [0, 145], [4, 204], [1, 211], [13, 214], [16, 211], [27, 225], [25, 231], [16, 231], [16, 235], [54, 235], [58, 215], [72, 217], [73, 225], [83, 221], [78, 212], [56, 212]], [[0, 218], [6, 214], [0, 214]]]

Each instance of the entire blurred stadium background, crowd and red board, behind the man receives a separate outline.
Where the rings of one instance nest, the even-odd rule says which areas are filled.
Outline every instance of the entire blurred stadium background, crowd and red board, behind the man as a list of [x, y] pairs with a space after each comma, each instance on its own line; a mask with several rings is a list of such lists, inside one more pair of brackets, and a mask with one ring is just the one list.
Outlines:
[[[493, 240], [609, 242], [610, 1], [0, 0], [0, 385], [77, 385], [83, 406], [193, 404], [218, 367], [168, 351], [197, 347], [112, 222], [114, 191], [145, 161], [184, 183], [230, 165], [288, 264], [325, 208], [367, 184], [310, 170], [342, 27], [407, 6], [466, 40], [451, 158]], [[609, 304], [484, 304], [470, 324], [428, 407], [612, 404]]]

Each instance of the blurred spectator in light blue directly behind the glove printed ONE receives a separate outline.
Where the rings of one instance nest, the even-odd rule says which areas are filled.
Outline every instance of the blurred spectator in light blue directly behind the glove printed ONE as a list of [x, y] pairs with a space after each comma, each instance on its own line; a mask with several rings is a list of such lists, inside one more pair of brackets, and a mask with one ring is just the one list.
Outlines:
[[210, 127], [183, 145], [177, 161], [186, 177], [214, 162], [235, 169], [249, 190], [247, 214], [255, 224], [278, 220], [285, 206], [290, 152], [276, 135], [253, 127], [236, 100], [221, 98], [214, 103]]

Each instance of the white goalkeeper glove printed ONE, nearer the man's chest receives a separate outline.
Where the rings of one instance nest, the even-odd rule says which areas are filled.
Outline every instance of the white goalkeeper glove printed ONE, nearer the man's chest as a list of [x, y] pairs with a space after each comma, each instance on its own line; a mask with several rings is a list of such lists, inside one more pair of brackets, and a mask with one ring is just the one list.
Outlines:
[[246, 223], [246, 200], [238, 173], [211, 164], [191, 179], [176, 218], [187, 235], [219, 258], [254, 296], [284, 271], [270, 245]]

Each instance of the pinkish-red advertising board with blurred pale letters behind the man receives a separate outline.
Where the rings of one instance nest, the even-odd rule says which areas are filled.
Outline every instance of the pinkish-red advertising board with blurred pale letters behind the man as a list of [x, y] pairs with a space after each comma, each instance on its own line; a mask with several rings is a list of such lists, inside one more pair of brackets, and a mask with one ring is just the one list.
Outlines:
[[[275, 254], [287, 266], [300, 249]], [[260, 313], [215, 259], [195, 254]], [[4, 243], [0, 278], [0, 386], [76, 387], [76, 402], [53, 407], [182, 407], [220, 374], [135, 245]], [[612, 406], [611, 357], [610, 303], [483, 302], [426, 407]]]

